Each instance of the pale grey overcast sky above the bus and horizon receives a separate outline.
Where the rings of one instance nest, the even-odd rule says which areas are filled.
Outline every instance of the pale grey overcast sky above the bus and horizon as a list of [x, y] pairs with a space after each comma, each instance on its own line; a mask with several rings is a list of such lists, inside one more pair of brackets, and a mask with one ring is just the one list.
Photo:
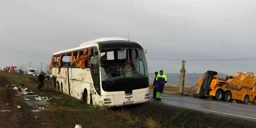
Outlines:
[[[256, 1], [2, 1], [0, 67], [40, 71], [52, 53], [99, 37], [140, 42], [147, 58], [255, 57]], [[148, 59], [150, 72], [179, 73], [181, 61]], [[187, 61], [187, 73], [255, 72], [256, 61]]]

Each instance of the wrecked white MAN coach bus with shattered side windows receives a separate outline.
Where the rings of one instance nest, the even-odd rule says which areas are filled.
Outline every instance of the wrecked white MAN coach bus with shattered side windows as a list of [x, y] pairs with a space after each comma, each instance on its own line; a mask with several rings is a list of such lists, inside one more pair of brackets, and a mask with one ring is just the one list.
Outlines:
[[51, 59], [57, 91], [108, 107], [145, 103], [150, 98], [146, 50], [138, 43], [105, 37], [56, 52]]

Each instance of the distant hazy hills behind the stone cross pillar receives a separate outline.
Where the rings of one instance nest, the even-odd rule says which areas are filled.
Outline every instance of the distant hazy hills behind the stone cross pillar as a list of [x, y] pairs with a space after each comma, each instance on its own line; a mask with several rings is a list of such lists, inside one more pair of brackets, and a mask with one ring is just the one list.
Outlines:
[[[166, 85], [179, 86], [179, 84], [180, 84], [180, 73], [165, 73], [165, 75], [167, 76], [167, 79], [168, 79]], [[200, 76], [202, 76], [202, 75], [203, 75], [203, 73], [186, 73], [185, 74], [185, 85], [184, 86], [186, 86], [186, 87], [195, 86], [195, 84], [197, 84]], [[218, 73], [218, 76], [225, 78], [227, 75], [223, 74], [223, 73]], [[154, 79], [155, 79], [155, 74], [150, 73], [149, 77], [150, 77], [150, 84], [153, 84]]]

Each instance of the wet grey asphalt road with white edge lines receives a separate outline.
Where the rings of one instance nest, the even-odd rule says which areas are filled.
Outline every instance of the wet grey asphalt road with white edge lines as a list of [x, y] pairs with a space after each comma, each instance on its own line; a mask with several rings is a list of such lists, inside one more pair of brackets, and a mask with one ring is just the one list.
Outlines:
[[[153, 94], [151, 94], [151, 97], [152, 96]], [[256, 106], [249, 104], [246, 105], [175, 95], [163, 95], [161, 101], [156, 101], [152, 98], [150, 101], [256, 122]]]

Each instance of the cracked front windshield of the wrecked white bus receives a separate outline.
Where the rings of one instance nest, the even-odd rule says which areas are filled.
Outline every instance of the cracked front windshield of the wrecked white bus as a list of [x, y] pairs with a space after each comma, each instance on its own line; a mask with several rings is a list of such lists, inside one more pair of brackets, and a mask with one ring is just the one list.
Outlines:
[[148, 87], [147, 62], [143, 49], [106, 49], [100, 51], [102, 89], [106, 92]]

